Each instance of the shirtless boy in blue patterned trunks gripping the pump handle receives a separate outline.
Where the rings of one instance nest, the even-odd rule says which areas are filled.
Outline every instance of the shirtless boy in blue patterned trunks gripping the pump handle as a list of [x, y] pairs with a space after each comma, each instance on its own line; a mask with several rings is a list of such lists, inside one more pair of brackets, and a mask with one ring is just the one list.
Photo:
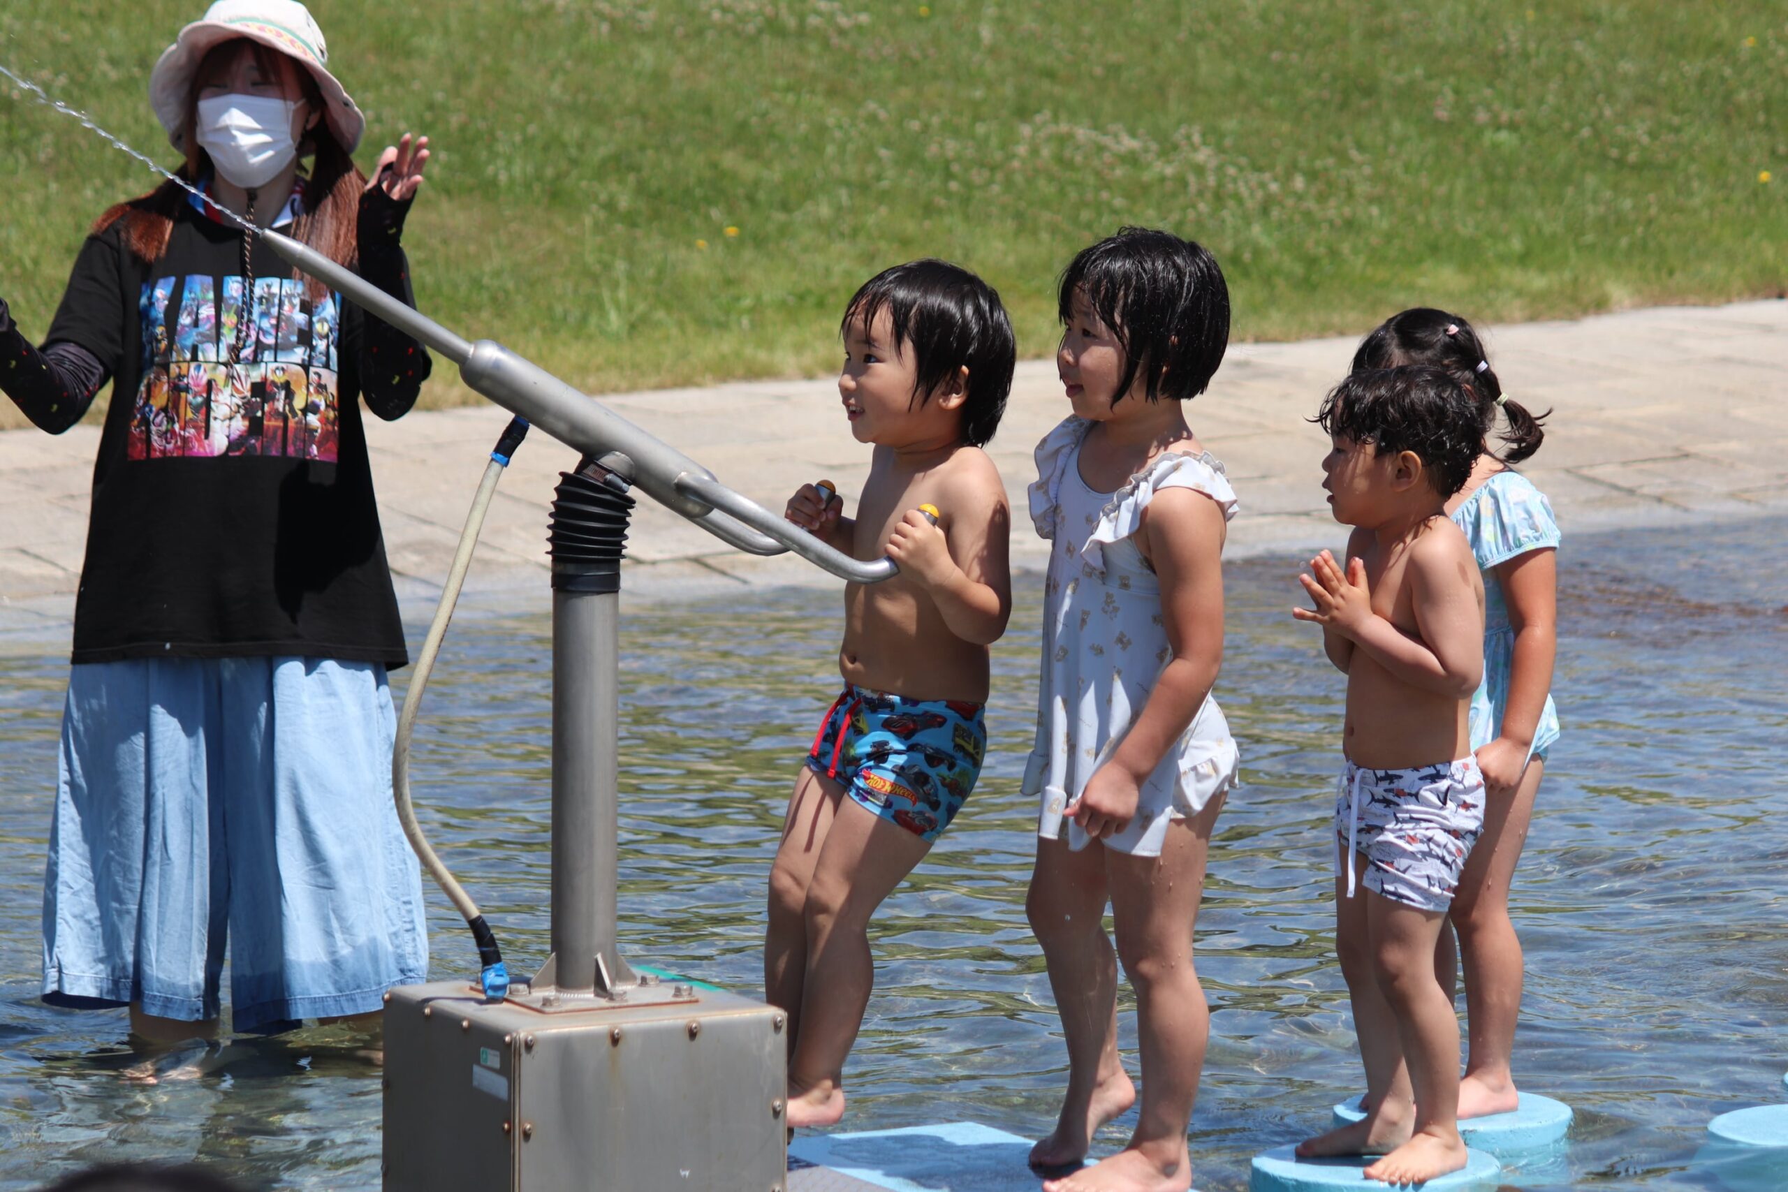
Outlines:
[[[974, 786], [987, 747], [987, 647], [1012, 611], [1005, 486], [982, 443], [1012, 388], [999, 295], [944, 261], [867, 281], [840, 327], [839, 397], [874, 443], [846, 518], [805, 484], [787, 516], [899, 574], [844, 592], [844, 692], [814, 736], [771, 869], [763, 992], [789, 1015], [789, 1126], [844, 1115], [844, 1058], [869, 1004], [869, 915]], [[937, 509], [937, 524], [919, 506]]]

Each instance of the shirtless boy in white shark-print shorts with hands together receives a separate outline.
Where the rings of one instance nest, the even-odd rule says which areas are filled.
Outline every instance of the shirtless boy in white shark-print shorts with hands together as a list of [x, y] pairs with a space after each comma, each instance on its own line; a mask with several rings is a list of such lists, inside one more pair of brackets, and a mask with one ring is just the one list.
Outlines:
[[[1346, 672], [1346, 767], [1336, 802], [1336, 945], [1366, 1062], [1364, 1121], [1302, 1156], [1382, 1154], [1364, 1169], [1421, 1183], [1466, 1163], [1459, 1020], [1434, 944], [1484, 822], [1466, 713], [1484, 663], [1484, 584], [1445, 513], [1482, 440], [1475, 404], [1439, 368], [1348, 377], [1316, 422], [1346, 570], [1327, 550], [1300, 575], [1328, 661]], [[1355, 886], [1359, 892], [1355, 895]]]

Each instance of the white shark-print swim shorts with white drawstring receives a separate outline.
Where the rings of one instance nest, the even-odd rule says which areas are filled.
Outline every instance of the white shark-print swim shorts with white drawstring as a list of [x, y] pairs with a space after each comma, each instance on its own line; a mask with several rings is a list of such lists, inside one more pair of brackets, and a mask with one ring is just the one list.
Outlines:
[[1484, 776], [1477, 758], [1370, 770], [1341, 770], [1336, 799], [1336, 861], [1346, 867], [1354, 897], [1355, 858], [1366, 858], [1359, 885], [1405, 906], [1452, 906], [1464, 860], [1484, 827]]

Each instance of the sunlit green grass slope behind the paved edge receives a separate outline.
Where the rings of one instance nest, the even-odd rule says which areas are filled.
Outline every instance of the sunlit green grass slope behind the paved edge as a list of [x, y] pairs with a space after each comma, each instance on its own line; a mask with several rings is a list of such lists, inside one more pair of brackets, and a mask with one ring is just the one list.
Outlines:
[[[0, 61], [154, 150], [148, 68], [200, 11], [7, 0]], [[1246, 340], [1788, 273], [1779, 0], [313, 11], [370, 114], [363, 161], [434, 138], [422, 307], [597, 391], [824, 374], [851, 290], [924, 254], [983, 273], [1046, 356], [1055, 277], [1119, 223], [1209, 245]], [[150, 179], [7, 89], [0, 163], [0, 293], [41, 332], [86, 223]]]

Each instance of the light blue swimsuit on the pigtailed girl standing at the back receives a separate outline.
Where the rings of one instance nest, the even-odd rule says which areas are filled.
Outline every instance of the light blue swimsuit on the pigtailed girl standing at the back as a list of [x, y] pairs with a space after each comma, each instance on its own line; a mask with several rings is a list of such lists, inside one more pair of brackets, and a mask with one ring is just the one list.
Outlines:
[[[1509, 706], [1509, 674], [1514, 668], [1514, 625], [1493, 568], [1529, 550], [1557, 549], [1559, 525], [1552, 504], [1520, 472], [1497, 472], [1452, 511], [1464, 531], [1484, 572], [1484, 681], [1472, 697], [1472, 749], [1482, 749], [1502, 733], [1502, 713]], [[1534, 745], [1527, 756], [1547, 756], [1559, 738], [1559, 713], [1547, 695], [1547, 706], [1534, 727]]]

